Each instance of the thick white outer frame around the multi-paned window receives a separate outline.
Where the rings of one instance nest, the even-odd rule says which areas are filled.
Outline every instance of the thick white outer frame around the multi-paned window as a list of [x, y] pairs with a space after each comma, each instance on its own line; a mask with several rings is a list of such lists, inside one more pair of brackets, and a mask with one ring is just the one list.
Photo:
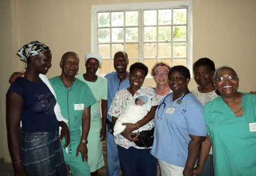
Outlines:
[[[188, 6], [187, 8], [187, 41], [188, 41], [187, 42], [187, 68], [189, 68], [190, 74], [192, 76], [193, 75], [193, 71], [192, 71], [192, 67], [193, 67], [192, 1], [193, 0], [92, 5], [91, 6], [91, 52], [98, 52], [98, 30], [97, 30], [97, 25], [98, 25], [97, 13], [98, 12], [108, 11], [108, 10], [138, 10], [138, 9], [150, 10], [150, 9], [181, 8], [182, 6]], [[139, 19], [139, 21], [141, 20], [143, 19]], [[143, 50], [141, 49], [142, 46], [140, 45], [141, 43], [139, 43], [138, 60], [141, 62], [143, 61], [142, 60]], [[111, 68], [112, 67], [113, 67], [113, 64], [111, 64]], [[104, 76], [104, 75], [101, 75], [101, 76]], [[150, 76], [147, 76], [147, 78], [150, 78]]]

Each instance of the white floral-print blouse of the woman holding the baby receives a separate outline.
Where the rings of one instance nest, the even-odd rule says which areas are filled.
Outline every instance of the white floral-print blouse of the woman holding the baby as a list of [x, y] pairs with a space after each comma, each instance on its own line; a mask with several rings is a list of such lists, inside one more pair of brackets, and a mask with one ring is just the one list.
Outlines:
[[[122, 89], [116, 93], [115, 98], [112, 101], [111, 107], [109, 108], [108, 114], [110, 116], [115, 116], [116, 118], [119, 118], [119, 116], [122, 115], [123, 112], [125, 112], [127, 104], [129, 104], [130, 101], [135, 101], [136, 97], [140, 95], [144, 95], [150, 98], [152, 106], [158, 105], [157, 95], [155, 94], [155, 90], [152, 87], [140, 87], [140, 89], [136, 91], [134, 96], [131, 96], [130, 92], [127, 89]], [[152, 119], [150, 122], [140, 127], [140, 131], [151, 130], [154, 126], [154, 119]], [[138, 149], [144, 149], [144, 147], [138, 147], [136, 144], [134, 144], [134, 142], [130, 142], [121, 134], [115, 136], [115, 143], [126, 149], [130, 148], [130, 146]]]

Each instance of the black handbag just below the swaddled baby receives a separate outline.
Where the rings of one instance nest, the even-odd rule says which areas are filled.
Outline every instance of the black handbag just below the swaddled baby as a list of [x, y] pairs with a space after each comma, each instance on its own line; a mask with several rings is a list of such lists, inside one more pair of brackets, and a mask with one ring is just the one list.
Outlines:
[[[140, 133], [140, 135], [138, 136], [138, 141], [135, 141], [134, 143], [140, 147], [144, 146], [145, 148], [150, 148], [154, 142], [154, 129], [155, 127], [151, 130], [138, 132]], [[134, 134], [133, 136], [136, 137], [137, 134]]]

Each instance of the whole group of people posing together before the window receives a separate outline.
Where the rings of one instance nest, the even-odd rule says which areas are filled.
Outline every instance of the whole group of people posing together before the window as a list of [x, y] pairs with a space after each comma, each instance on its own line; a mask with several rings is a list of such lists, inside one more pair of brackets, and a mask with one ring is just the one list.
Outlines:
[[[108, 175], [120, 175], [119, 164], [123, 175], [157, 175], [158, 163], [161, 175], [256, 173], [256, 96], [237, 90], [233, 68], [215, 70], [200, 58], [190, 91], [189, 69], [164, 63], [152, 68], [156, 86], [143, 87], [147, 66], [134, 63], [128, 72], [125, 52], [115, 53], [116, 71], [105, 78], [96, 75], [100, 54], [86, 54], [86, 73], [77, 75], [79, 57], [67, 52], [61, 75], [49, 80], [48, 46], [33, 41], [18, 54], [26, 72], [11, 76], [6, 96], [16, 175], [67, 175], [66, 164], [73, 175], [97, 175], [105, 137]], [[152, 130], [146, 146], [141, 136]]]

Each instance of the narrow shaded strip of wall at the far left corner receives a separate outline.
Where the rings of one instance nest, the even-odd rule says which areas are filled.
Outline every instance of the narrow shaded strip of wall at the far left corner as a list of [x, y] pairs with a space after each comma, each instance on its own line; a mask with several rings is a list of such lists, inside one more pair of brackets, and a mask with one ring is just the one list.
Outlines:
[[[14, 62], [15, 50], [17, 46], [17, 21], [16, 21], [16, 6], [14, 0], [0, 1], [0, 157], [5, 158], [6, 162], [10, 162], [10, 156], [7, 146], [6, 137], [6, 120], [5, 120], [5, 97], [6, 91], [9, 88], [9, 75], [14, 70], [19, 69], [19, 63]], [[3, 25], [4, 24], [4, 25]]]

